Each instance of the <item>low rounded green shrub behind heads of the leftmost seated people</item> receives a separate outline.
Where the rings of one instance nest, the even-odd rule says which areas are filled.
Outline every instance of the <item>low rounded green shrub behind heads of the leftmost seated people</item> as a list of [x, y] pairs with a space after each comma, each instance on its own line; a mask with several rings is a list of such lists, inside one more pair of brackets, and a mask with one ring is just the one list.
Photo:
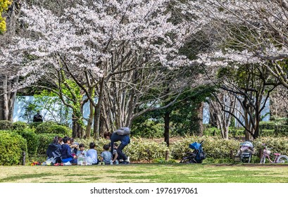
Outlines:
[[68, 127], [58, 125], [56, 122], [42, 122], [35, 129], [37, 134], [59, 134], [60, 136], [71, 136], [72, 130]]

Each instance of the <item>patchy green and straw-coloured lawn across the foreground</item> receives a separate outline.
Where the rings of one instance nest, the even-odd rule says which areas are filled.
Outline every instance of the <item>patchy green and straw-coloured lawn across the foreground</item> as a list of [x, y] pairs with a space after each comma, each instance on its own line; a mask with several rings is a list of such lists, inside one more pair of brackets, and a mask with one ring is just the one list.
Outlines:
[[10, 183], [288, 183], [287, 165], [0, 166]]

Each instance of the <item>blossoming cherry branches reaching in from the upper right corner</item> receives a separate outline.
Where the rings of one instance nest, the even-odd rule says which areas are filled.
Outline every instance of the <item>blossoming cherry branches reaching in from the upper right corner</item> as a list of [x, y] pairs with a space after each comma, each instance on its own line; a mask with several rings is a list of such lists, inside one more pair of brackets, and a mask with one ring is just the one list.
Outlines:
[[[198, 6], [197, 15], [207, 21], [206, 29], [211, 32], [214, 46], [208, 56], [222, 58], [212, 64], [227, 65], [227, 60], [241, 64], [258, 62], [288, 88], [287, 3], [285, 0], [207, 0], [189, 4]], [[219, 53], [224, 56], [220, 57]]]

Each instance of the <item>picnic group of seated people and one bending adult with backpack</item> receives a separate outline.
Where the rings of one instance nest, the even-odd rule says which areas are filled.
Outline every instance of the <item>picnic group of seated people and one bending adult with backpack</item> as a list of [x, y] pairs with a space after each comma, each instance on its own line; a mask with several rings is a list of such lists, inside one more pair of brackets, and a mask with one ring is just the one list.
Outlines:
[[[123, 148], [130, 144], [130, 128], [122, 127], [115, 132], [105, 132], [104, 138], [110, 140], [103, 146], [100, 154], [96, 144], [91, 142], [89, 147], [78, 144], [73, 138], [55, 136], [49, 144], [47, 160], [41, 165], [118, 165], [129, 164], [130, 158], [123, 153]], [[118, 144], [118, 141], [120, 144]]]

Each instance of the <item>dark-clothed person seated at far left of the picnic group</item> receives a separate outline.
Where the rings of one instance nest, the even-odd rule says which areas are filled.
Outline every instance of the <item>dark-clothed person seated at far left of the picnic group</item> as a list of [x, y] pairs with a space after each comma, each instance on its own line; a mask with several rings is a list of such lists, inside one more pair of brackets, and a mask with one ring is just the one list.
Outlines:
[[48, 159], [54, 158], [53, 162], [54, 164], [56, 163], [61, 163], [61, 145], [58, 142], [59, 137], [55, 136], [52, 143], [49, 144], [46, 155], [48, 156]]

